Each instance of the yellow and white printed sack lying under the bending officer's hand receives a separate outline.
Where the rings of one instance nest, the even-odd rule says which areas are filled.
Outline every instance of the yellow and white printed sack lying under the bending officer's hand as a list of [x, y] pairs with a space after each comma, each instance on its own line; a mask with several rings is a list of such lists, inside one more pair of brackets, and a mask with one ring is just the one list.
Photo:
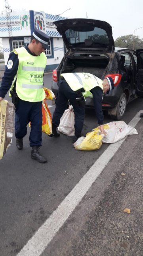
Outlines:
[[[108, 130], [109, 125], [105, 124], [104, 129]], [[76, 150], [98, 150], [102, 145], [103, 134], [97, 127], [92, 132], [88, 132], [86, 137], [79, 138], [73, 145]]]

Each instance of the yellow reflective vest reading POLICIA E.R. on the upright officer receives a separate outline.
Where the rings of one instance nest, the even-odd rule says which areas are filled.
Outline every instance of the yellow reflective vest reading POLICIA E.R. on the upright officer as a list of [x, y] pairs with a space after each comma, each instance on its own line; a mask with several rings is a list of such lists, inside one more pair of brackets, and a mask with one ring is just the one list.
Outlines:
[[[33, 56], [21, 47], [14, 49], [18, 54], [19, 65], [16, 79], [16, 93], [21, 100], [30, 102], [38, 102], [44, 100], [46, 97], [43, 89], [43, 75], [46, 67], [47, 57], [45, 53], [40, 56]], [[11, 89], [13, 88], [13, 84]]]

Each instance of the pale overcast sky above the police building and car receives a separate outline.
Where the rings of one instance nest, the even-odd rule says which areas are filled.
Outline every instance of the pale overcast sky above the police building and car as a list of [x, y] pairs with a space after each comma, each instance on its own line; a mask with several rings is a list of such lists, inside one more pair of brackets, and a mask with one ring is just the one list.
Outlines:
[[[0, 12], [5, 10], [5, 1], [0, 1]], [[69, 3], [68, 3], [69, 2]], [[43, 11], [61, 14], [69, 18], [104, 20], [112, 26], [114, 40], [118, 36], [133, 34], [143, 38], [143, 0], [9, 0], [12, 10]], [[137, 29], [140, 28], [140, 29]], [[137, 29], [137, 30], [136, 30]]]

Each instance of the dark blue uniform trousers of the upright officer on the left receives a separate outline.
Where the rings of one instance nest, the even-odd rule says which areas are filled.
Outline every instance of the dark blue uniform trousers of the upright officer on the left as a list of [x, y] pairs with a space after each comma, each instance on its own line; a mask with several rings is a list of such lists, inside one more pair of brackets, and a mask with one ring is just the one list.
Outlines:
[[31, 121], [30, 146], [42, 144], [42, 102], [19, 99], [15, 110], [15, 137], [22, 139], [27, 134], [27, 124]]

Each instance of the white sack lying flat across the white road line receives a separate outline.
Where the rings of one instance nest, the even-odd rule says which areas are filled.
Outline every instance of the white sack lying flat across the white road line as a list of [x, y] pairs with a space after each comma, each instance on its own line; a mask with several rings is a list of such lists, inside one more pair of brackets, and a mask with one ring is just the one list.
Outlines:
[[102, 139], [103, 143], [115, 143], [122, 140], [127, 135], [138, 134], [137, 130], [126, 124], [124, 121], [110, 122], [107, 135]]

